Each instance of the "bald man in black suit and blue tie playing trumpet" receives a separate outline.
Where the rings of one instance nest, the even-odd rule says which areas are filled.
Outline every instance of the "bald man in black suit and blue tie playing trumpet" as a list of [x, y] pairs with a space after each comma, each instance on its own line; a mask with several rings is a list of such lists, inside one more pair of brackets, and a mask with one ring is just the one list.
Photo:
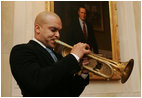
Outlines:
[[11, 71], [24, 97], [77, 97], [89, 83], [88, 71], [75, 74], [80, 71], [80, 59], [90, 53], [89, 45], [74, 45], [66, 57], [56, 54], [53, 49], [61, 29], [58, 15], [41, 12], [35, 19], [33, 40], [13, 47]]

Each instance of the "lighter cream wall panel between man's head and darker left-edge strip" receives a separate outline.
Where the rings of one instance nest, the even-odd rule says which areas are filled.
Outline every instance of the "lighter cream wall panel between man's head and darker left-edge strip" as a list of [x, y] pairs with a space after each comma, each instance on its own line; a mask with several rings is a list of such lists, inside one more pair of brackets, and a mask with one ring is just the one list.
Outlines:
[[[13, 45], [28, 42], [34, 35], [34, 19], [45, 10], [45, 2], [14, 2]], [[17, 37], [18, 36], [18, 37]]]

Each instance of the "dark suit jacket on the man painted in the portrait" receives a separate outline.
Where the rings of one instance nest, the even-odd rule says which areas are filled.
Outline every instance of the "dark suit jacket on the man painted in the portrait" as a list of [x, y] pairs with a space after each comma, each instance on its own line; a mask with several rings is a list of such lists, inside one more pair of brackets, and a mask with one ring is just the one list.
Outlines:
[[92, 26], [87, 22], [86, 22], [86, 25], [87, 25], [87, 30], [88, 30], [88, 41], [86, 41], [83, 36], [83, 31], [80, 26], [79, 19], [76, 18], [71, 23], [71, 25], [69, 26], [69, 28], [67, 30], [67, 33], [65, 35], [66, 36], [65, 42], [70, 45], [74, 45], [78, 42], [88, 43], [90, 45], [90, 47], [93, 48], [93, 51], [95, 53], [98, 53], [98, 47], [97, 47], [97, 43], [96, 43], [96, 39], [95, 39], [95, 35], [94, 35], [94, 31], [92, 29]]

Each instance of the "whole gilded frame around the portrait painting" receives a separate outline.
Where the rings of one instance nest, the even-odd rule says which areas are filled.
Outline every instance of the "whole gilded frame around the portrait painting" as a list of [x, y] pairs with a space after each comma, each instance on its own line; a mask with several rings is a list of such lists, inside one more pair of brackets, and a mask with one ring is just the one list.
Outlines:
[[[111, 45], [112, 45], [112, 60], [120, 61], [120, 48], [118, 39], [118, 22], [117, 22], [117, 1], [109, 2], [110, 30], [111, 30]], [[54, 12], [54, 1], [46, 1], [46, 11]], [[101, 29], [102, 30], [102, 29]], [[104, 80], [99, 76], [92, 76], [91, 79]], [[119, 80], [120, 77], [114, 74], [112, 80]]]

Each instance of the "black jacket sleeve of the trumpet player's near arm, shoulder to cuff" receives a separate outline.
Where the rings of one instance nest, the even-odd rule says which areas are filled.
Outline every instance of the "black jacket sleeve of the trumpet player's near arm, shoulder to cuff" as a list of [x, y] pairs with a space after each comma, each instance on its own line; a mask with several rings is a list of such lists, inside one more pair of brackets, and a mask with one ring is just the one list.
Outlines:
[[73, 55], [41, 68], [36, 55], [26, 45], [15, 46], [10, 54], [11, 71], [21, 88], [34, 93], [56, 87], [56, 84], [80, 70]]

